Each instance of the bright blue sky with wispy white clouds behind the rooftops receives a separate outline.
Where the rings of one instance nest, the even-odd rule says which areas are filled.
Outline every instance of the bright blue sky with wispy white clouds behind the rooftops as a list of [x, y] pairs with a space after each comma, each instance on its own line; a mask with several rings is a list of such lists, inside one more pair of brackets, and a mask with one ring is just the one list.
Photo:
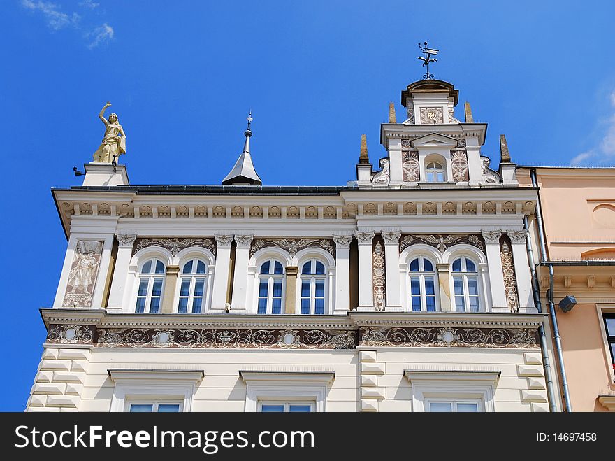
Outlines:
[[81, 183], [106, 101], [133, 184], [221, 183], [251, 108], [264, 184], [344, 185], [362, 133], [384, 156], [379, 124], [389, 101], [402, 118], [427, 40], [435, 77], [489, 123], [492, 166], [500, 133], [519, 164], [611, 166], [614, 15], [612, 1], [4, 1], [0, 409], [24, 409], [66, 250], [50, 187]]

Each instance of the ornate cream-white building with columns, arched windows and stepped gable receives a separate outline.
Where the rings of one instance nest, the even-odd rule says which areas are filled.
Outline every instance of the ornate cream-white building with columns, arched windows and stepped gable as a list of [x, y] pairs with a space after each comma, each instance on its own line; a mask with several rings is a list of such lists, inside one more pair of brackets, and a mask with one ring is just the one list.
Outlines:
[[223, 185], [86, 164], [52, 190], [68, 248], [27, 411], [560, 410], [537, 189], [457, 103], [408, 85], [346, 186], [262, 185], [249, 125]]

